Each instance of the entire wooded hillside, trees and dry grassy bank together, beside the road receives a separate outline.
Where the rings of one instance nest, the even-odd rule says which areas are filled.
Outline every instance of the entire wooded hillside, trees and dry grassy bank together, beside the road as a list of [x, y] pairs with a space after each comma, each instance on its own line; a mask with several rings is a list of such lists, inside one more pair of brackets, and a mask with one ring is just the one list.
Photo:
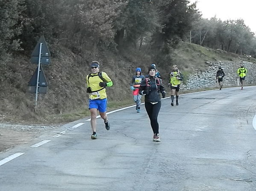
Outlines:
[[[48, 92], [39, 94], [35, 113], [27, 84], [37, 66], [29, 60], [42, 35], [51, 64], [42, 66]], [[156, 63], [167, 85], [173, 64], [187, 77], [208, 60], [240, 55], [256, 57], [256, 38], [244, 21], [203, 19], [189, 0], [2, 0], [0, 121], [58, 123], [87, 116], [85, 76], [93, 60], [113, 80], [107, 90], [112, 109], [132, 104], [129, 83], [137, 67], [145, 74]]]

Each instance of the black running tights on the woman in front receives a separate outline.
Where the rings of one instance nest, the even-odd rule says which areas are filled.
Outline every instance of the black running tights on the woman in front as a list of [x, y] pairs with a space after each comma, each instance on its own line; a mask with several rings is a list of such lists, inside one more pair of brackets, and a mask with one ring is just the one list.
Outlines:
[[156, 104], [152, 104], [150, 102], [145, 102], [145, 108], [148, 114], [148, 117], [150, 119], [150, 125], [153, 130], [154, 134], [159, 133], [159, 125], [157, 122], [158, 113], [161, 108], [161, 102], [158, 102]]

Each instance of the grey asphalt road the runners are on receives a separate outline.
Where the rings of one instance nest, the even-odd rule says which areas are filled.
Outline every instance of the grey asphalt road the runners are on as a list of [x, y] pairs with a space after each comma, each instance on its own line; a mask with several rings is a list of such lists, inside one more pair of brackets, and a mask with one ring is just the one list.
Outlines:
[[97, 119], [97, 140], [82, 119], [0, 153], [0, 191], [256, 191], [256, 86], [179, 103], [162, 100], [160, 143], [142, 105]]

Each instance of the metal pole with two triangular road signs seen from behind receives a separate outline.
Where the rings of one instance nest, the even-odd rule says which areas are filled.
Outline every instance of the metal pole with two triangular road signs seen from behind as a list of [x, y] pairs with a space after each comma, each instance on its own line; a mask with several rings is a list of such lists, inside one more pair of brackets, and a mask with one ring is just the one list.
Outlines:
[[35, 93], [35, 113], [37, 108], [38, 93], [46, 94], [47, 92], [47, 81], [44, 76], [43, 68], [41, 64], [49, 65], [50, 64], [50, 52], [46, 45], [44, 36], [40, 37], [37, 45], [32, 52], [31, 63], [37, 64], [37, 70], [32, 75], [29, 80], [28, 91]]

